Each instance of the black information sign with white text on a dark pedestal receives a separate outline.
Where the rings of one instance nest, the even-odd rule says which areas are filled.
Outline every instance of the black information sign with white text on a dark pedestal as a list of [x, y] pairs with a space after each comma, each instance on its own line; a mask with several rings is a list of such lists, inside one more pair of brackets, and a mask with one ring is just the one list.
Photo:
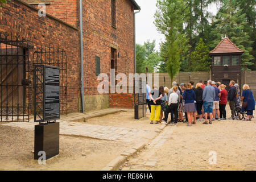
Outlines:
[[48, 65], [34, 67], [34, 159], [45, 154], [46, 159], [59, 154], [60, 69]]

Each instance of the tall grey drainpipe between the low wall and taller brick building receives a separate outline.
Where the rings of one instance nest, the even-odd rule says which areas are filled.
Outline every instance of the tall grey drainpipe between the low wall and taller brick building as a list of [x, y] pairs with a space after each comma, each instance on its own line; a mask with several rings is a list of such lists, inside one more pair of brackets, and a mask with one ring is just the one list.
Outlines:
[[81, 55], [81, 101], [82, 101], [82, 113], [84, 113], [84, 46], [83, 46], [83, 34], [82, 34], [82, 0], [80, 0], [80, 55]]

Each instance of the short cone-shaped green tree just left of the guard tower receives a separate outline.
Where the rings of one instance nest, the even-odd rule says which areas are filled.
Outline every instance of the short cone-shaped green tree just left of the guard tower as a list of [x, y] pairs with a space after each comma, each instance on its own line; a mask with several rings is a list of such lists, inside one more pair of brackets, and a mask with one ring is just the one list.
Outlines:
[[191, 54], [191, 71], [205, 72], [209, 71], [210, 66], [209, 49], [205, 46], [203, 39], [200, 39], [195, 51]]

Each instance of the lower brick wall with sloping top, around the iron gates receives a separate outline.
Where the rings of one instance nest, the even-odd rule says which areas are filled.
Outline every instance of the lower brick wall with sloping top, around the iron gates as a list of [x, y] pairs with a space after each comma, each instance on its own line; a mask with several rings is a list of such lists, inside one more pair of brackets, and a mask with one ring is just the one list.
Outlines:
[[67, 52], [68, 63], [68, 111], [78, 111], [80, 96], [79, 31], [51, 16], [39, 17], [38, 11], [21, 1], [7, 1], [0, 7], [0, 32], [20, 36], [34, 47], [33, 52], [42, 46], [55, 46]]

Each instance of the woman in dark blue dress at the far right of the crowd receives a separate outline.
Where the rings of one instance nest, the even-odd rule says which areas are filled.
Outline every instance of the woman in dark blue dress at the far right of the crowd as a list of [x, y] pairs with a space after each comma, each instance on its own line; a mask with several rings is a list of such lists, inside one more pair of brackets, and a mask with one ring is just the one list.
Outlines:
[[253, 111], [255, 110], [255, 100], [253, 97], [253, 92], [251, 92], [250, 87], [247, 84], [243, 85], [241, 100], [248, 103], [246, 108], [242, 107], [242, 111], [247, 111], [246, 121], [251, 121]]

